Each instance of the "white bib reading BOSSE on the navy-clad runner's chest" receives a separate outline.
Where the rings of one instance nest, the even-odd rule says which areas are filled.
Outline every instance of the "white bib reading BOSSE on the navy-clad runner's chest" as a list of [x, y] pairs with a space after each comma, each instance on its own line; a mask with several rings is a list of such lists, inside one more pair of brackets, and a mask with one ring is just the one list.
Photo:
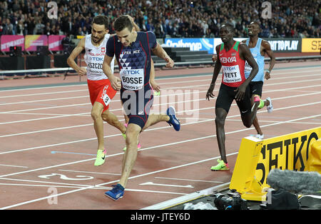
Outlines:
[[121, 83], [123, 88], [138, 90], [144, 86], [144, 69], [121, 69]]

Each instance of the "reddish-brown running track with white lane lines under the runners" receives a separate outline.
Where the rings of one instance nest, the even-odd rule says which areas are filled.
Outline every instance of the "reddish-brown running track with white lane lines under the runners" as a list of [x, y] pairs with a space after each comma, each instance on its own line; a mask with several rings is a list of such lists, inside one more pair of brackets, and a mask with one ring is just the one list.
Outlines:
[[[320, 61], [275, 65], [263, 87], [275, 110], [258, 111], [266, 138], [321, 125], [320, 68]], [[125, 143], [105, 123], [108, 158], [93, 166], [97, 141], [86, 83], [76, 76], [0, 81], [0, 208], [136, 210], [230, 182], [240, 141], [255, 130], [242, 125], [233, 103], [225, 123], [231, 169], [210, 171], [220, 158], [215, 99], [205, 101], [212, 73], [213, 68], [156, 71], [162, 97], [153, 111], [175, 106], [181, 130], [158, 123], [141, 134], [143, 148], [116, 202], [103, 193], [120, 178]], [[119, 93], [111, 111], [123, 121]]]

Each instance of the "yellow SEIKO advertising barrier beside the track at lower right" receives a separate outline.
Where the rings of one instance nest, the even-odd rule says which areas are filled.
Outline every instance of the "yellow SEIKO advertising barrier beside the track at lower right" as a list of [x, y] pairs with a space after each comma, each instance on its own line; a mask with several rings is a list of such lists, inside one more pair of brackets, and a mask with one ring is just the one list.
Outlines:
[[[315, 158], [320, 156], [318, 152], [320, 141], [317, 141], [320, 136], [321, 127], [264, 140], [254, 137], [243, 138], [230, 181], [230, 189], [237, 190], [245, 200], [263, 200], [265, 189], [270, 187], [266, 183], [270, 170], [279, 168], [308, 171], [309, 156], [313, 161], [318, 161]], [[312, 150], [314, 154], [311, 154], [312, 143], [315, 143]], [[313, 166], [313, 169], [318, 168], [321, 169], [320, 164]], [[321, 173], [321, 170], [313, 171]]]

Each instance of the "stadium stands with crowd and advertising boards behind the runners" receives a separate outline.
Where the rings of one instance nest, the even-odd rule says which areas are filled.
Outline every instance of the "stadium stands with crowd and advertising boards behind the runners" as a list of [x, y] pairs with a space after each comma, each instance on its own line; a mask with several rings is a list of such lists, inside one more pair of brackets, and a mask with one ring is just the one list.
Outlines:
[[[235, 39], [244, 39], [248, 24], [258, 21], [259, 36], [270, 42], [277, 61], [320, 60], [320, 6], [318, 0], [1, 0], [0, 79], [76, 74], [66, 58], [91, 33], [98, 14], [108, 17], [111, 34], [117, 16], [133, 16], [141, 31], [156, 34], [175, 66], [213, 66], [218, 30], [225, 22], [235, 26]], [[76, 60], [86, 66], [83, 56]], [[153, 60], [158, 68], [165, 64]]]

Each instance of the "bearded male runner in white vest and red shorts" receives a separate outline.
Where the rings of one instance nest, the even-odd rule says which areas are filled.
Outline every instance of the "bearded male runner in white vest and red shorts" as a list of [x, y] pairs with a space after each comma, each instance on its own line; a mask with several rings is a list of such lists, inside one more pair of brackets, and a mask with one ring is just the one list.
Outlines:
[[[134, 26], [137, 26], [134, 24]], [[108, 34], [108, 19], [106, 16], [99, 15], [93, 18], [91, 34], [86, 35], [71, 52], [67, 63], [73, 68], [79, 76], [87, 75], [88, 90], [93, 108], [91, 117], [93, 118], [93, 127], [98, 139], [97, 158], [95, 166], [101, 166], [105, 162], [106, 149], [103, 141], [103, 121], [118, 128], [121, 133], [126, 133], [126, 127], [118, 118], [108, 110], [109, 103], [116, 91], [111, 87], [108, 77], [103, 73], [102, 63], [106, 54], [106, 43], [111, 35]], [[84, 59], [87, 69], [78, 66], [75, 58], [86, 50]], [[113, 62], [112, 62], [113, 71]]]

